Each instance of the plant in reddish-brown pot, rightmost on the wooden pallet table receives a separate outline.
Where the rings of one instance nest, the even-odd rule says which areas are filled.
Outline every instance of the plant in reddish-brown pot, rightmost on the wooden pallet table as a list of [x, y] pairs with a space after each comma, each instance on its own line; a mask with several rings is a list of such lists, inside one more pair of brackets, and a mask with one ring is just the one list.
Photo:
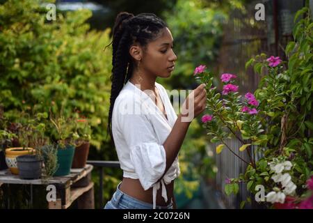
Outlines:
[[91, 139], [91, 128], [88, 123], [88, 119], [79, 118], [77, 119], [77, 146], [75, 148], [74, 159], [72, 168], [83, 168], [86, 165], [90, 139]]

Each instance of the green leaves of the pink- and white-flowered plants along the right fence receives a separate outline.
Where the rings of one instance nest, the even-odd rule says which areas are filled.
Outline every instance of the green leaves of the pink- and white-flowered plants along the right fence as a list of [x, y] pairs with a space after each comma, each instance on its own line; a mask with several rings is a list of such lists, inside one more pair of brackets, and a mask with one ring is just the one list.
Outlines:
[[[211, 87], [214, 79], [211, 73], [205, 71], [197, 75], [200, 82], [207, 84], [207, 107], [214, 116], [204, 124], [211, 141], [222, 142], [234, 153], [233, 148], [225, 144], [225, 139], [236, 137], [243, 145], [239, 151], [248, 153], [249, 160], [234, 153], [248, 167], [244, 174], [225, 186], [227, 194], [235, 194], [234, 185], [240, 182], [246, 182], [252, 193], [255, 193], [256, 185], [264, 185], [266, 192], [282, 190], [284, 186], [278, 187], [278, 182], [273, 180], [282, 172], [274, 171], [274, 167], [282, 167], [282, 164], [287, 165], [284, 170], [297, 188], [291, 195], [298, 199], [305, 194], [305, 182], [313, 174], [313, 24], [309, 8], [300, 10], [295, 20], [304, 13], [307, 16], [294, 26], [295, 40], [286, 47], [287, 62], [271, 58], [277, 61], [273, 65], [271, 59], [266, 59], [268, 56], [261, 54], [246, 63], [246, 68], [253, 66], [255, 72], [262, 75], [255, 91], [257, 105], [252, 106], [246, 96], [242, 99], [236, 91], [224, 93], [222, 98], [216, 93], [216, 87]], [[234, 84], [234, 80], [227, 84]], [[253, 107], [257, 108], [257, 114], [244, 111], [247, 108], [251, 111]], [[255, 159], [255, 151], [250, 150], [250, 145], [257, 146], [255, 150], [263, 155], [261, 159]]]

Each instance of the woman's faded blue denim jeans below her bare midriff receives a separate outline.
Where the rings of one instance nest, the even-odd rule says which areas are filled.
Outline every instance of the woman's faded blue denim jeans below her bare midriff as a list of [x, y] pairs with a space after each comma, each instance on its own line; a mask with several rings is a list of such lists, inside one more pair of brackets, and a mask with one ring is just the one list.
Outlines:
[[[122, 182], [121, 182], [122, 183]], [[152, 203], [140, 201], [125, 194], [120, 190], [120, 184], [116, 188], [111, 201], [106, 203], [104, 209], [152, 209]], [[172, 209], [172, 202], [168, 206], [156, 206], [157, 209]]]

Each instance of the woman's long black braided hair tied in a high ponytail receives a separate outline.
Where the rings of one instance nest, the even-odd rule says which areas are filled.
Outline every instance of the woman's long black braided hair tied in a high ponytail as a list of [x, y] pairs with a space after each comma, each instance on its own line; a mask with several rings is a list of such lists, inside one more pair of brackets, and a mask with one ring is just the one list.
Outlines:
[[147, 44], [157, 39], [161, 30], [166, 27], [167, 24], [153, 13], [141, 13], [134, 16], [131, 13], [122, 12], [116, 17], [111, 43], [113, 47], [113, 68], [107, 129], [112, 140], [111, 121], [114, 102], [124, 84], [131, 78], [134, 67], [136, 67], [129, 54], [129, 49], [134, 43], [138, 43], [145, 49]]

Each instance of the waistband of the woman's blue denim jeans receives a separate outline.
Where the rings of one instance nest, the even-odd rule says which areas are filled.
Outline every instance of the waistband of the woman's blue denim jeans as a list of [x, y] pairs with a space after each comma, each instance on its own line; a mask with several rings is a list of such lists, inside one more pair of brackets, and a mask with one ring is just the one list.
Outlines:
[[[120, 190], [120, 182], [118, 186], [116, 187], [116, 191], [113, 194], [112, 202], [114, 203], [115, 206], [118, 206], [118, 202], [120, 201], [121, 197], [124, 198], [127, 203], [131, 203], [132, 206], [140, 206], [141, 208], [146, 208], [146, 209], [152, 209], [153, 204], [152, 203], [147, 203], [144, 201], [140, 201], [134, 197], [129, 196], [128, 194], [125, 194]], [[168, 206], [156, 206], [156, 209], [172, 209], [172, 200]]]

